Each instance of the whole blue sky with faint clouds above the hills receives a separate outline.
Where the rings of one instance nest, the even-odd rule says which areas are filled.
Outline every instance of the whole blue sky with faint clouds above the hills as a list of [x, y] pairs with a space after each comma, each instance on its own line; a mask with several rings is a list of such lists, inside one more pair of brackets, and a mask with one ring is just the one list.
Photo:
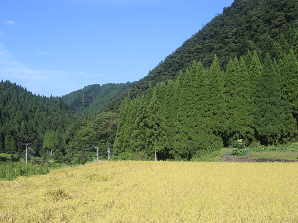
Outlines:
[[133, 82], [233, 0], [3, 0], [0, 80], [62, 96]]

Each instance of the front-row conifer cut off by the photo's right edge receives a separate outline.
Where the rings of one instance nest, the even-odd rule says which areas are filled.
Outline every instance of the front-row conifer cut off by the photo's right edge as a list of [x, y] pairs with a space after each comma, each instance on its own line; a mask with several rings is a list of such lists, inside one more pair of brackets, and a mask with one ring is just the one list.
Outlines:
[[[284, 62], [284, 61], [283, 61]], [[293, 137], [297, 129], [298, 115], [298, 63], [293, 49], [287, 56], [282, 72], [282, 103], [285, 113], [285, 136]]]

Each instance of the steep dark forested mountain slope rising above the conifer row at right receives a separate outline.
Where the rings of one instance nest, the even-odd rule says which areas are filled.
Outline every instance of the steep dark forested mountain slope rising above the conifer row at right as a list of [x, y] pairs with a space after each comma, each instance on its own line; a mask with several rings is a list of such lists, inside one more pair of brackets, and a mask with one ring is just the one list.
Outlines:
[[[289, 27], [297, 28], [297, 12], [297, 0], [235, 0], [167, 56], [148, 76], [134, 83], [130, 94], [146, 93], [149, 82], [154, 86], [157, 82], [175, 81], [180, 70], [185, 72], [194, 60], [201, 59], [204, 67], [210, 67], [214, 55], [217, 55], [220, 69], [225, 70], [230, 58], [237, 56], [239, 59], [248, 50], [262, 50], [268, 35], [278, 41], [281, 33], [287, 36]], [[198, 28], [201, 26], [197, 24]], [[260, 55], [261, 61], [264, 58]]]

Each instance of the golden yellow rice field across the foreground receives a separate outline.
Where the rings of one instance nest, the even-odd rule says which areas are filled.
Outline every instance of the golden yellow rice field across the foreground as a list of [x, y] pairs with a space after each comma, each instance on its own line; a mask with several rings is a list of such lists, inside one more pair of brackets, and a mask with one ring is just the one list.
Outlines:
[[0, 181], [0, 222], [298, 222], [297, 163], [94, 162]]

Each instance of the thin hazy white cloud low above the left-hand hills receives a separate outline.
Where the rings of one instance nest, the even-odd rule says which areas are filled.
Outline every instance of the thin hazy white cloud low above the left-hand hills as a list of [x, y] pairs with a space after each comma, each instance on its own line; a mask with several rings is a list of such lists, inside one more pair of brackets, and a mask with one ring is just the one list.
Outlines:
[[[16, 56], [0, 43], [0, 78], [27, 87], [34, 94], [62, 96], [87, 86], [90, 81], [99, 83], [104, 74], [68, 72], [65, 70], [41, 69], [16, 61]], [[97, 80], [94, 82], [94, 80]]]

